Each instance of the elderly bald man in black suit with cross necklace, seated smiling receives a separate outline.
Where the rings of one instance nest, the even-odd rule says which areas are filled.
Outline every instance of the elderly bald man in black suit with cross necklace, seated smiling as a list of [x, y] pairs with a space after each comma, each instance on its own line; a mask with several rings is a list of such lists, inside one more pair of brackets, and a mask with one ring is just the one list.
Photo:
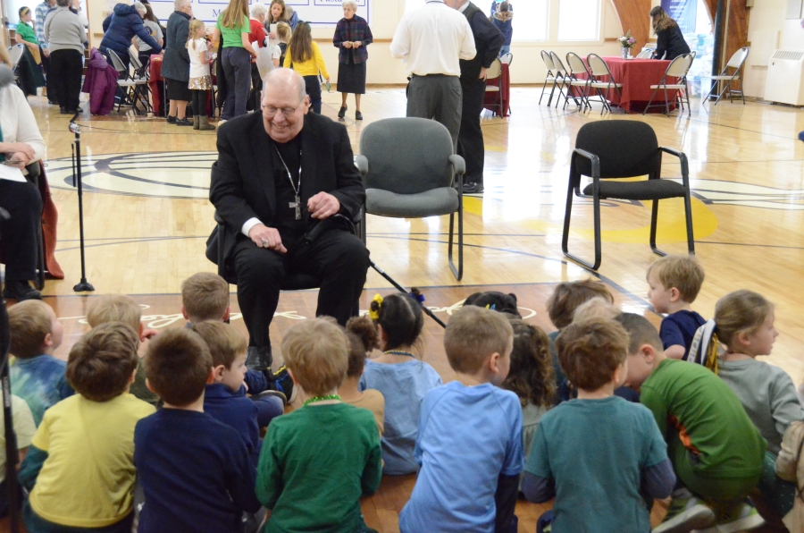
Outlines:
[[[363, 241], [331, 218], [353, 220], [365, 199], [346, 127], [309, 108], [304, 79], [278, 69], [265, 77], [262, 114], [218, 130], [209, 199], [226, 223], [219, 237], [237, 272], [249, 368], [272, 362], [268, 326], [286, 275], [320, 278], [316, 315], [345, 325], [369, 267]], [[325, 230], [311, 240], [317, 224]]]

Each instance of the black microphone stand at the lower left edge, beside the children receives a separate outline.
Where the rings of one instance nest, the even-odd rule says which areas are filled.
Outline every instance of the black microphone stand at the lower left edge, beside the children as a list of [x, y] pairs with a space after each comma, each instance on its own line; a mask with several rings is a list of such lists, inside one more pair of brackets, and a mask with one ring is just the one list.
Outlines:
[[[0, 220], [11, 218], [8, 212], [0, 208]], [[8, 376], [8, 352], [11, 348], [11, 329], [8, 325], [8, 310], [5, 300], [0, 297], [0, 386], [3, 388], [3, 416], [5, 436], [5, 488], [8, 497], [8, 514], [10, 533], [20, 531], [20, 490], [17, 483], [17, 435], [14, 433], [12, 414], [11, 381]]]

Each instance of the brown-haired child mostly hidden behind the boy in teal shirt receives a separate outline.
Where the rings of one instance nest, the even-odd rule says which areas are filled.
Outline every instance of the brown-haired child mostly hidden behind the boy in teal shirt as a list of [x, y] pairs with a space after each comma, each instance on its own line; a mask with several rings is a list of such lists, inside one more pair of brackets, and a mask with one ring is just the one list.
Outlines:
[[566, 376], [564, 371], [561, 370], [561, 365], [558, 364], [556, 338], [562, 329], [573, 323], [575, 309], [593, 298], [603, 298], [614, 304], [614, 298], [612, 298], [611, 292], [608, 292], [606, 285], [591, 278], [577, 282], [558, 283], [556, 289], [547, 300], [546, 305], [550, 322], [557, 327], [557, 331], [548, 334], [550, 356], [553, 359], [553, 370], [556, 373], [556, 403], [565, 402], [571, 397], [571, 391], [566, 383]]

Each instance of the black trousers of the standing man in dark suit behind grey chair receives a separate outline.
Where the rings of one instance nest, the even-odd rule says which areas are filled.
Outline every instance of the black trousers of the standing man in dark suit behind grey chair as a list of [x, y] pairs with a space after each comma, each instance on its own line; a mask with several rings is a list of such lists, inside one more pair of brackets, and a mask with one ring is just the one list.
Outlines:
[[483, 111], [483, 97], [486, 96], [486, 81], [476, 80], [463, 87], [464, 98], [461, 110], [461, 130], [458, 133], [458, 156], [466, 161], [464, 182], [483, 182], [483, 164], [486, 148], [483, 145], [483, 131], [480, 127], [480, 114]]

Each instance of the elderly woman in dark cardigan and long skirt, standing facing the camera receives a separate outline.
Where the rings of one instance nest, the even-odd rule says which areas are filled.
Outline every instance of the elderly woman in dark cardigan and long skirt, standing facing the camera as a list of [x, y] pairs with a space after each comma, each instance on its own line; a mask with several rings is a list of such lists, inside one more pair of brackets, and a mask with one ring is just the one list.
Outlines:
[[360, 95], [365, 94], [365, 62], [368, 52], [365, 47], [372, 44], [372, 30], [364, 18], [358, 17], [355, 0], [344, 0], [343, 18], [338, 21], [332, 44], [339, 48], [338, 92], [341, 94], [338, 118], [346, 116], [346, 99], [349, 93], [355, 95], [355, 119], [363, 120], [360, 113]]

